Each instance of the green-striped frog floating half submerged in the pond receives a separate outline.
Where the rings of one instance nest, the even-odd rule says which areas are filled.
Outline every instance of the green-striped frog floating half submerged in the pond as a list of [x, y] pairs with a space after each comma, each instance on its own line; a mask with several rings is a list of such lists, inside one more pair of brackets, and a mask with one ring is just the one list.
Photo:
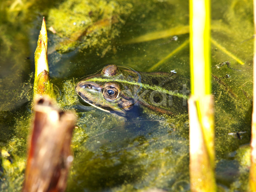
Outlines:
[[177, 115], [187, 111], [187, 84], [175, 71], [145, 73], [111, 64], [79, 81], [76, 93], [84, 102], [119, 116], [144, 109]]

